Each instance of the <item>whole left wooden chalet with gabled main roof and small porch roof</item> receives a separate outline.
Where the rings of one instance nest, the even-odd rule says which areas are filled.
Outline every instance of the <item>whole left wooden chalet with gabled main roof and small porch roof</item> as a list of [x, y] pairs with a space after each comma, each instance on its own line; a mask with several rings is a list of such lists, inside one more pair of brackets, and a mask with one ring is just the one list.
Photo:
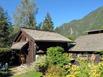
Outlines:
[[30, 64], [49, 47], [61, 46], [68, 51], [69, 42], [71, 40], [55, 32], [21, 28], [11, 48], [17, 53], [19, 64]]

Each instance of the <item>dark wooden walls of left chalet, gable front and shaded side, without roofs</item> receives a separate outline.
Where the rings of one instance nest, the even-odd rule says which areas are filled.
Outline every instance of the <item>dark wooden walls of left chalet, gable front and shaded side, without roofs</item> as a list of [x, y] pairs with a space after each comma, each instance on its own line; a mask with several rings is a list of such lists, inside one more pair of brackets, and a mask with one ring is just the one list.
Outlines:
[[[45, 54], [47, 48], [61, 46], [65, 51], [68, 51], [68, 42], [60, 42], [60, 41], [36, 41], [31, 36], [29, 36], [25, 31], [20, 31], [13, 44], [18, 42], [27, 42], [21, 49], [13, 51], [18, 51], [19, 55], [19, 64], [30, 64], [36, 60], [36, 55]], [[42, 52], [39, 52], [42, 51]]]

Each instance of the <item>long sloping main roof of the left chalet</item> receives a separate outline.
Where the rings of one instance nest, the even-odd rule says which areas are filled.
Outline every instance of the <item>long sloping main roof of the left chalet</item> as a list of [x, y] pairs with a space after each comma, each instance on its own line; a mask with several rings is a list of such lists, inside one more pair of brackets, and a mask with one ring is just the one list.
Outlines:
[[31, 36], [36, 41], [59, 41], [59, 42], [71, 41], [70, 39], [56, 32], [32, 30], [32, 29], [26, 29], [26, 28], [21, 28], [21, 30], [26, 32], [29, 36]]

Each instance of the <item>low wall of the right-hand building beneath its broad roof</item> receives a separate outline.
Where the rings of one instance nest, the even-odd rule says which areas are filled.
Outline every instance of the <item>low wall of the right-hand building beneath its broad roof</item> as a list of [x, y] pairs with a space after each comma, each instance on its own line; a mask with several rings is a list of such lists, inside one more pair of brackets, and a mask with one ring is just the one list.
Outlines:
[[69, 54], [72, 56], [73, 60], [81, 58], [95, 63], [101, 61], [101, 54], [95, 51], [69, 51]]

